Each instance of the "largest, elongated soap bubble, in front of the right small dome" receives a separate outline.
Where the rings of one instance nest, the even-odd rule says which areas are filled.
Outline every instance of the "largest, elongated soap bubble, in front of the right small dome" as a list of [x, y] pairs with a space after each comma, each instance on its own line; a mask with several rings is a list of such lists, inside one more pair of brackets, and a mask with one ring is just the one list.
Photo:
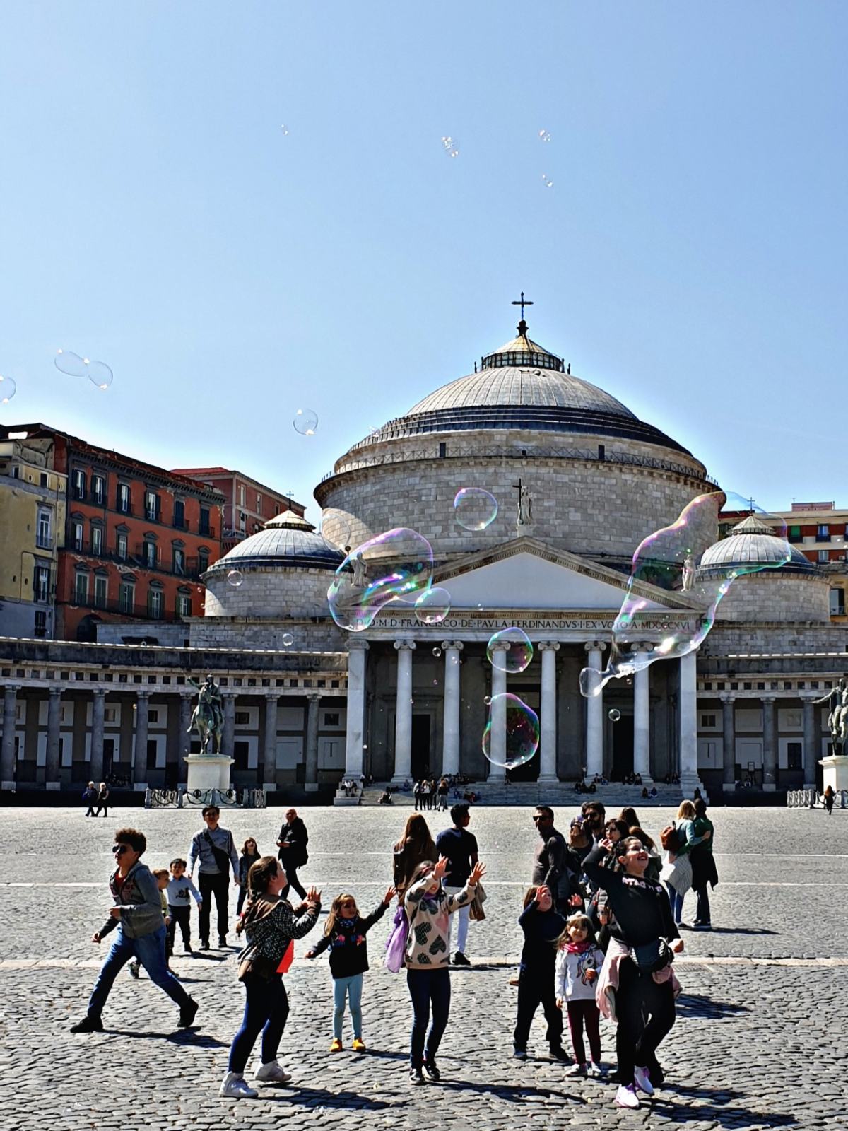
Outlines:
[[[719, 515], [721, 499], [718, 491], [698, 495], [675, 523], [640, 542], [624, 601], [613, 622], [609, 661], [603, 672], [582, 670], [583, 696], [600, 694], [609, 680], [632, 675], [657, 659], [694, 651], [712, 628], [719, 602], [738, 577], [780, 569], [791, 560], [786, 523], [779, 516], [767, 515], [753, 500], [742, 500], [747, 517], [737, 521], [738, 513], [732, 512], [725, 523]], [[699, 547], [716, 537], [719, 524], [722, 533], [736, 541], [716, 542], [699, 560]], [[666, 601], [657, 589], [669, 594], [666, 599], [670, 607], [663, 607]], [[650, 628], [642, 625], [643, 620], [650, 622]], [[638, 648], [640, 641], [644, 642]]]

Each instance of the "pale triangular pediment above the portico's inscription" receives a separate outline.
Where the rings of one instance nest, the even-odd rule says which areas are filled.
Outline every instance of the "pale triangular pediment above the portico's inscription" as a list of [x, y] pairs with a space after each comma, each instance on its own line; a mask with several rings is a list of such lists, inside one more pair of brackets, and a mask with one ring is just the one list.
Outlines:
[[[444, 587], [451, 608], [552, 608], [617, 611], [628, 586], [624, 573], [535, 538], [516, 538], [496, 550], [469, 554], [439, 569], [433, 585]], [[692, 611], [676, 593], [638, 582], [646, 612]]]

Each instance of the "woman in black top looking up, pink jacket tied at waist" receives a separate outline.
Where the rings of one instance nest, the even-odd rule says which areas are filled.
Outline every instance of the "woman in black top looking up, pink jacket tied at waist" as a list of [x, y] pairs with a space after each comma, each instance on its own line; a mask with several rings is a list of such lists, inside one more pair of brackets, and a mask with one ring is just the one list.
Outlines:
[[629, 952], [618, 966], [615, 995], [621, 1082], [615, 1102], [620, 1107], [638, 1107], [637, 1088], [651, 1096], [654, 1085], [664, 1079], [656, 1053], [674, 1025], [675, 1010], [670, 979], [659, 972], [667, 965], [663, 958], [666, 944], [680, 951], [683, 940], [661, 884], [644, 878], [650, 857], [641, 840], [626, 837], [618, 843], [621, 871], [600, 863], [612, 847], [612, 841], [599, 840], [583, 861], [583, 870], [592, 883], [606, 891], [615, 916], [612, 938]]

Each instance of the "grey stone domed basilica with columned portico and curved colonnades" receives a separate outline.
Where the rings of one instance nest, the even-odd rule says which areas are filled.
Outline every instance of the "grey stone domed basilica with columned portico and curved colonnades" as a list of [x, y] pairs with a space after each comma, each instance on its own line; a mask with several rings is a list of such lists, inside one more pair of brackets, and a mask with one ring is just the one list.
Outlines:
[[[462, 487], [496, 500], [485, 529], [456, 521]], [[738, 782], [812, 785], [829, 752], [817, 700], [842, 674], [848, 637], [831, 623], [827, 578], [797, 551], [734, 584], [698, 651], [580, 693], [581, 670], [609, 655], [635, 546], [708, 492], [720, 486], [695, 456], [572, 374], [522, 319], [474, 372], [336, 460], [315, 489], [320, 533], [288, 511], [214, 563], [202, 616], [104, 625], [90, 645], [0, 641], [3, 788], [69, 788], [107, 769], [136, 788], [184, 780], [187, 676], [207, 670], [224, 692], [237, 785], [314, 792], [430, 770], [494, 791], [504, 770], [481, 739], [487, 699], [502, 691], [540, 720], [538, 756], [510, 776], [551, 791], [583, 771], [680, 775], [712, 796]], [[393, 527], [430, 542], [450, 612], [422, 624], [392, 602], [364, 631], [345, 631], [328, 610], [335, 571], [346, 549]], [[754, 517], [719, 541], [704, 510], [692, 539], [702, 571], [775, 567], [778, 539]], [[646, 647], [669, 625], [694, 636], [703, 608], [691, 594], [635, 592]], [[486, 658], [511, 625], [534, 645], [516, 675]], [[504, 741], [495, 718], [493, 748]]]

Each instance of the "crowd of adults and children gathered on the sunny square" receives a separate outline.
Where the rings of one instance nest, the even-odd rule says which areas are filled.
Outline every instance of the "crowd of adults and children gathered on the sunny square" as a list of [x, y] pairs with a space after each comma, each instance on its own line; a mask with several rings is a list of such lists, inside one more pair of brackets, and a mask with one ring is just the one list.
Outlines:
[[[440, 796], [439, 788], [435, 795]], [[319, 922], [321, 892], [305, 889], [297, 877], [309, 861], [309, 835], [296, 810], [286, 811], [277, 852], [271, 855], [261, 855], [252, 837], [236, 852], [233, 835], [220, 826], [219, 817], [215, 805], [207, 805], [188, 858], [175, 857], [170, 869], [153, 872], [141, 862], [147, 847], [144, 834], [132, 828], [118, 830], [115, 869], [110, 877], [113, 906], [92, 936], [98, 943], [114, 932], [114, 939], [86, 1015], [71, 1031], [103, 1029], [103, 1008], [128, 962], [136, 976], [144, 967], [179, 1007], [179, 1026], [190, 1027], [198, 1003], [170, 969], [176, 927], [183, 951], [191, 953], [190, 908], [192, 900], [197, 903], [200, 948], [208, 949], [215, 901], [218, 946], [226, 947], [232, 874], [232, 883], [239, 887], [236, 933], [245, 943], [239, 955], [244, 1013], [220, 1095], [252, 1098], [258, 1091], [245, 1081], [244, 1072], [260, 1035], [254, 1082], [291, 1080], [277, 1059], [288, 1018], [284, 975], [292, 964], [294, 941]], [[471, 965], [469, 923], [485, 917], [482, 880], [486, 869], [468, 829], [470, 820], [469, 804], [458, 802], [450, 810], [450, 826], [434, 839], [424, 815], [412, 813], [393, 846], [391, 887], [378, 906], [363, 915], [353, 893], [335, 896], [323, 933], [305, 955], [308, 959], [325, 951], [329, 956], [334, 984], [330, 1052], [344, 1047], [346, 1010], [352, 1048], [364, 1051], [366, 935], [397, 900], [386, 965], [406, 974], [413, 1086], [441, 1079], [436, 1056], [450, 1020], [450, 966]], [[638, 1107], [640, 1094], [650, 1096], [665, 1078], [657, 1051], [675, 1020], [680, 984], [673, 960], [683, 949], [683, 906], [690, 889], [696, 897], [692, 927], [711, 926], [709, 888], [718, 877], [707, 805], [700, 796], [682, 802], [676, 820], [661, 830], [658, 841], [642, 829], [632, 808], [608, 819], [604, 804], [595, 800], [582, 804], [566, 835], [556, 828], [554, 812], [546, 805], [536, 808], [533, 820], [538, 841], [518, 917], [523, 946], [513, 979], [518, 986], [513, 1055], [519, 1061], [527, 1057], [534, 1017], [542, 1007], [551, 1057], [574, 1074], [606, 1078], [600, 1037], [600, 1018], [606, 1017], [616, 1026], [615, 1103]], [[289, 900], [291, 891], [300, 903]], [[566, 1028], [568, 1048], [563, 1043]]]

